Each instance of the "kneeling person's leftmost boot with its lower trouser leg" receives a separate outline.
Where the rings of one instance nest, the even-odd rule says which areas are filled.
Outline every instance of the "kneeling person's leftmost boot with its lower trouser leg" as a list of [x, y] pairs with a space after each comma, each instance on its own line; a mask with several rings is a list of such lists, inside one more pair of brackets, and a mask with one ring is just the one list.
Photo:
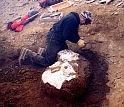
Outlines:
[[29, 49], [22, 48], [19, 57], [19, 65], [21, 66], [23, 63], [33, 64], [35, 56], [37, 56], [37, 53]]

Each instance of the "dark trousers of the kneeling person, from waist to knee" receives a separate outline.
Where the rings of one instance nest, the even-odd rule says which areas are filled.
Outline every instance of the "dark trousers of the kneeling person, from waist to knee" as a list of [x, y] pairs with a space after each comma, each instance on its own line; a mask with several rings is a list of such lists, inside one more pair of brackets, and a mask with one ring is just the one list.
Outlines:
[[35, 57], [35, 62], [38, 65], [41, 65], [41, 66], [52, 65], [56, 61], [57, 53], [60, 50], [68, 49], [67, 44], [65, 42], [60, 42], [54, 39], [55, 36], [56, 36], [56, 33], [52, 31], [48, 33], [44, 53], [42, 53], [42, 56], [37, 55]]

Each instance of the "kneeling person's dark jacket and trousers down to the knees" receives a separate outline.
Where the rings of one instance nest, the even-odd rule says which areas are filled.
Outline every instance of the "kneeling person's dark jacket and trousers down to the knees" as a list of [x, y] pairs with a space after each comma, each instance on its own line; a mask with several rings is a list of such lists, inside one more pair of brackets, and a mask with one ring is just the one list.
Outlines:
[[57, 53], [68, 49], [66, 40], [77, 43], [80, 39], [78, 35], [79, 24], [80, 18], [75, 12], [69, 13], [55, 23], [47, 34], [43, 56], [37, 55], [35, 62], [42, 66], [49, 66], [55, 63]]

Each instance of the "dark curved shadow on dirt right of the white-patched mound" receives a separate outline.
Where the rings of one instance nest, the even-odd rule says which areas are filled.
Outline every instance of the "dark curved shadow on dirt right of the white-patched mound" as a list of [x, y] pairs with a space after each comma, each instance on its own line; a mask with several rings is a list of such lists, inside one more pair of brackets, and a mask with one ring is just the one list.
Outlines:
[[85, 49], [80, 54], [90, 62], [91, 71], [90, 83], [82, 100], [83, 105], [84, 107], [101, 107], [106, 99], [106, 93], [110, 90], [106, 85], [108, 64], [104, 56], [91, 50]]

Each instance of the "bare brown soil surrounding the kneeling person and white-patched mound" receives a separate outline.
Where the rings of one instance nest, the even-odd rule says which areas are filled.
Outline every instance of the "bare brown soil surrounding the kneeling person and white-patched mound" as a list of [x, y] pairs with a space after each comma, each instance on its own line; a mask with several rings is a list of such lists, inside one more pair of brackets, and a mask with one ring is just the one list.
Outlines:
[[85, 95], [65, 102], [41, 90], [41, 75], [46, 68], [18, 65], [22, 47], [35, 52], [44, 47], [53, 22], [40, 23], [38, 16], [21, 32], [5, 30], [7, 22], [39, 9], [39, 4], [37, 0], [0, 1], [0, 107], [124, 107], [124, 5], [116, 7], [118, 1], [109, 5], [75, 3], [61, 11], [64, 15], [84, 10], [93, 13], [93, 23], [79, 28], [81, 38], [90, 44], [80, 50], [76, 44], [67, 43], [90, 62], [91, 77]]

